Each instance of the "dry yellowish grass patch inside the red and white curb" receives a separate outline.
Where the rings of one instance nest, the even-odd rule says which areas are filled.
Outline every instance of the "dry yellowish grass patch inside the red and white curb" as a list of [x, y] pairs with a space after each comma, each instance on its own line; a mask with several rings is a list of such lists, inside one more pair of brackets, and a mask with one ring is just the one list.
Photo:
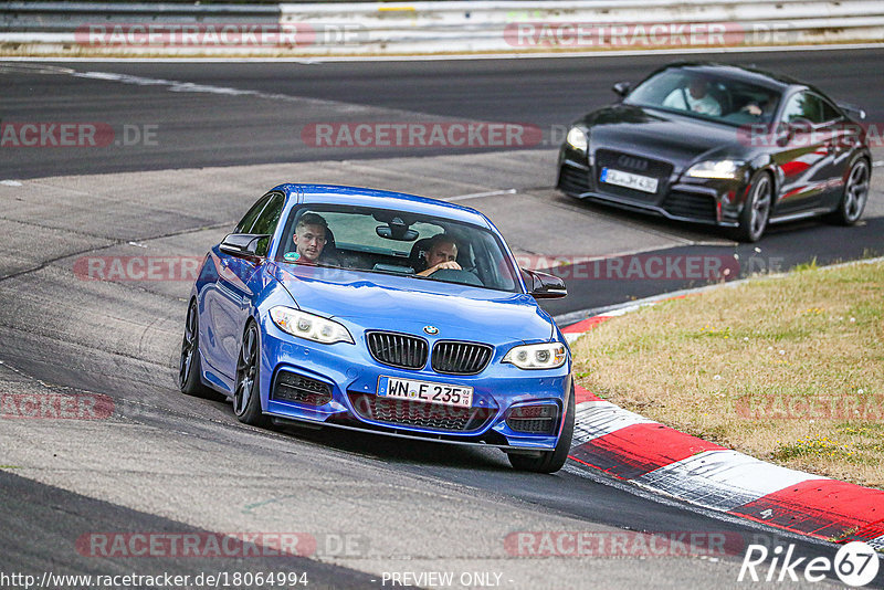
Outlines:
[[573, 345], [578, 382], [684, 432], [884, 488], [884, 263], [665, 302]]

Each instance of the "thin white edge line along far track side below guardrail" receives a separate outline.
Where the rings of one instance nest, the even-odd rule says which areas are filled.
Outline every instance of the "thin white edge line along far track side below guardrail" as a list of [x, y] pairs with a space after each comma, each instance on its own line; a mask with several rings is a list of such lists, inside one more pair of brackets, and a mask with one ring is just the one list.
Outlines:
[[781, 53], [783, 51], [852, 51], [865, 49], [882, 49], [882, 43], [844, 43], [832, 45], [792, 45], [792, 46], [759, 46], [759, 48], [699, 48], [699, 49], [671, 49], [671, 50], [635, 50], [635, 51], [587, 51], [562, 53], [462, 53], [453, 55], [340, 55], [340, 56], [299, 56], [299, 57], [32, 57], [15, 56], [0, 57], [0, 61], [17, 62], [149, 62], [149, 63], [302, 63], [322, 64], [334, 62], [444, 62], [464, 60], [548, 60], [552, 57], [623, 57], [643, 55], [694, 55], [717, 53]]

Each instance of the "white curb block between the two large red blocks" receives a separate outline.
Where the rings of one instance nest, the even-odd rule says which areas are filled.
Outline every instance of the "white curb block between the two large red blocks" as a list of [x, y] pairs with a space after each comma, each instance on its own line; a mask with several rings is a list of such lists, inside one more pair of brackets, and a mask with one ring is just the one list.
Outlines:
[[809, 480], [825, 477], [765, 463], [736, 451], [706, 451], [646, 473], [634, 483], [727, 512]]

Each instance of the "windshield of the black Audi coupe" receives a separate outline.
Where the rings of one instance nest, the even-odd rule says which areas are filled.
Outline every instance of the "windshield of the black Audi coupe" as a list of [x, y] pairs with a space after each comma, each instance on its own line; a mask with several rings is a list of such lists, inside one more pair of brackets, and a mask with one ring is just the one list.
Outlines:
[[623, 102], [740, 126], [770, 123], [780, 93], [691, 67], [672, 67], [645, 80]]

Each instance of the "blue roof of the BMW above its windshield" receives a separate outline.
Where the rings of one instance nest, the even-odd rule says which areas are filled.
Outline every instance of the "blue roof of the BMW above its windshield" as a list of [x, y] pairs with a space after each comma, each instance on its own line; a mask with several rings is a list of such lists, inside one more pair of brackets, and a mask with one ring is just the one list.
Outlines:
[[329, 203], [329, 204], [355, 204], [360, 207], [373, 207], [378, 209], [394, 209], [425, 215], [451, 219], [482, 225], [492, 229], [487, 218], [469, 207], [418, 197], [404, 192], [393, 192], [389, 190], [368, 189], [361, 187], [344, 187], [338, 185], [298, 185], [286, 183], [275, 187], [273, 190], [286, 196], [288, 206], [295, 203]]

